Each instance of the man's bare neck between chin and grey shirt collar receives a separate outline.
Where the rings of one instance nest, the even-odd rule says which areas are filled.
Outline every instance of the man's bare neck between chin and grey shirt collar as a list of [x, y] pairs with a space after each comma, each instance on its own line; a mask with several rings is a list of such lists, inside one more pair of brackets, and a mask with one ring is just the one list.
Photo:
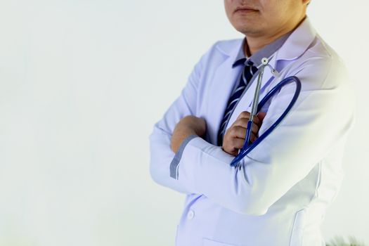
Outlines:
[[243, 50], [247, 56], [252, 56], [252, 54], [257, 53], [257, 51], [261, 50], [261, 48], [264, 48], [268, 44], [271, 44], [273, 41], [276, 41], [280, 37], [282, 37], [284, 34], [287, 34], [287, 32], [290, 32], [294, 29], [296, 29], [302, 21], [304, 21], [306, 18], [306, 15], [302, 20], [299, 20], [299, 22], [289, 25], [287, 27], [284, 27], [283, 29], [278, 30], [277, 32], [270, 34], [270, 35], [245, 35], [246, 41], [243, 46]]

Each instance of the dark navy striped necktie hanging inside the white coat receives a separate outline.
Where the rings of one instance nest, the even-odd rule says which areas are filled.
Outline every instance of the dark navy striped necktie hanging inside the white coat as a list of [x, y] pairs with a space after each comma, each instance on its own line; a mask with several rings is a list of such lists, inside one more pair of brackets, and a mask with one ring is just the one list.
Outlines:
[[[245, 62], [245, 60], [246, 58], [244, 58], [243, 62]], [[254, 63], [252, 63], [251, 60], [248, 60], [247, 63], [245, 63], [245, 67], [243, 67], [242, 76], [237, 88], [235, 89], [235, 91], [233, 91], [232, 96], [228, 99], [227, 108], [224, 112], [224, 117], [221, 121], [221, 126], [219, 127], [218, 131], [218, 146], [223, 145], [223, 138], [226, 131], [226, 122], [228, 122], [228, 118], [231, 116], [235, 105], [237, 105], [237, 102], [240, 100], [240, 96], [242, 95], [243, 91], [252, 79], [252, 76], [255, 72], [257, 72], [257, 67], [254, 66]]]

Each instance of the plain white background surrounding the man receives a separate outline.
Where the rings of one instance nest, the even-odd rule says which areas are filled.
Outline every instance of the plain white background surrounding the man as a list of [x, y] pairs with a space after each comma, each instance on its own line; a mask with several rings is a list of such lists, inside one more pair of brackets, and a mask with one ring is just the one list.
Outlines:
[[[368, 7], [309, 6], [357, 100], [323, 234], [367, 244]], [[240, 37], [219, 0], [1, 0], [0, 245], [174, 245], [184, 195], [151, 180], [148, 136], [202, 53]]]

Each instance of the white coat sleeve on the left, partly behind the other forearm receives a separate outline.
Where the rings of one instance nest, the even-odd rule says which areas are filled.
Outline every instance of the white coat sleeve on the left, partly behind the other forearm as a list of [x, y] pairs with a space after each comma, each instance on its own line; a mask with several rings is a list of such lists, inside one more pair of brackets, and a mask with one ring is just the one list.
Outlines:
[[[170, 164], [174, 159], [174, 152], [171, 150], [171, 135], [179, 120], [187, 115], [196, 114], [198, 101], [198, 87], [200, 77], [204, 70], [204, 63], [209, 57], [209, 49], [193, 68], [188, 77], [186, 86], [174, 103], [164, 113], [162, 119], [156, 122], [153, 132], [150, 134], [150, 175], [152, 179], [167, 188], [179, 191], [180, 193], [194, 193], [186, 183], [170, 177]], [[183, 146], [181, 146], [183, 148]]]

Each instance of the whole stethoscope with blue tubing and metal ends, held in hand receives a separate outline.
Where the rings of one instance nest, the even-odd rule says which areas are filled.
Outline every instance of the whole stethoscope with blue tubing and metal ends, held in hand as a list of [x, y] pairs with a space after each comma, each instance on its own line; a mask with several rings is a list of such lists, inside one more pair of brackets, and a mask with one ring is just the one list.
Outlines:
[[[259, 102], [261, 79], [262, 79], [263, 74], [264, 74], [264, 68], [269, 67], [271, 69], [272, 75], [276, 78], [279, 77], [278, 71], [275, 70], [271, 65], [269, 65], [268, 62], [269, 62], [268, 58], [262, 58], [261, 59], [260, 72], [259, 72], [259, 75], [257, 77], [257, 86], [255, 88], [254, 99], [252, 101], [251, 117], [250, 117], [249, 121], [247, 122], [245, 143], [243, 144], [243, 147], [239, 150], [238, 155], [232, 160], [231, 167], [236, 167], [236, 168], [241, 168], [242, 167], [242, 165], [240, 164], [240, 161], [243, 159], [243, 157], [245, 157], [248, 153], [250, 153], [251, 150], [253, 150], [261, 141], [264, 140], [264, 138], [266, 138], [266, 136], [271, 134], [271, 132], [274, 129], [276, 129], [276, 127], [278, 127], [278, 124], [280, 124], [280, 122], [282, 122], [282, 120], [285, 118], [287, 113], [290, 112], [290, 110], [291, 110], [292, 106], [294, 105], [294, 103], [296, 103], [297, 97], [299, 96], [299, 93], [301, 91], [301, 82], [300, 82], [299, 78], [297, 78], [296, 76], [290, 76], [290, 77], [287, 77], [287, 78], [283, 79], [276, 86], [274, 86], [273, 89], [271, 89], [271, 91], [269, 91], [266, 94], [266, 96], [264, 96], [264, 98], [258, 104], [257, 102]], [[285, 112], [283, 112], [283, 114], [280, 115], [280, 117], [276, 120], [276, 122], [274, 122], [271, 125], [271, 127], [269, 127], [264, 132], [264, 134], [261, 134], [261, 136], [259, 136], [259, 138], [257, 138], [257, 140], [255, 140], [253, 143], [250, 143], [252, 124], [254, 124], [253, 120], [254, 120], [254, 117], [256, 117], [257, 112], [259, 112], [261, 110], [263, 105], [269, 100], [269, 98], [271, 98], [271, 96], [273, 96], [275, 93], [277, 93], [283, 86], [285, 86], [286, 84], [290, 84], [291, 82], [294, 82], [296, 84], [296, 90], [294, 91], [294, 96], [292, 97], [292, 100], [291, 100], [290, 104], [285, 109]]]

